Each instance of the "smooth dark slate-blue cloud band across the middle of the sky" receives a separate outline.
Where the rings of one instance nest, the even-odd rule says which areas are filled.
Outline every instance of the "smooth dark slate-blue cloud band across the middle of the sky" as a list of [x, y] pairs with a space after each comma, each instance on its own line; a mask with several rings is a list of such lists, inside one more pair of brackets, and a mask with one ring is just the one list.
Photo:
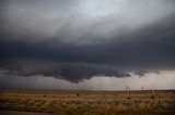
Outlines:
[[[66, 62], [116, 64], [133, 68], [147, 64], [153, 68], [154, 66], [172, 68], [175, 63], [174, 21], [174, 16], [167, 16], [135, 33], [116, 35], [108, 40], [84, 46], [57, 42], [56, 38], [39, 42], [2, 39], [1, 59], [36, 58]], [[98, 38], [92, 35], [83, 37]]]

